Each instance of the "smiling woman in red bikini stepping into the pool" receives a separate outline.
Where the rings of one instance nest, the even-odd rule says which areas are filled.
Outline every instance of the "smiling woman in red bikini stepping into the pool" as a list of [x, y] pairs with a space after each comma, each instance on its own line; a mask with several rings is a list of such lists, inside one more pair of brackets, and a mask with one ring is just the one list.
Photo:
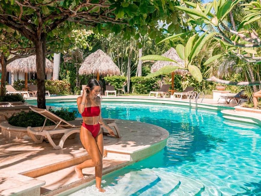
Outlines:
[[96, 187], [99, 191], [104, 192], [105, 190], [101, 188], [103, 135], [99, 123], [105, 126], [110, 135], [115, 136], [115, 134], [101, 117], [101, 98], [98, 96], [100, 93], [101, 84], [92, 79], [83, 90], [83, 95], [77, 98], [78, 110], [83, 119], [80, 139], [91, 159], [77, 165], [75, 171], [78, 178], [83, 180], [82, 169], [95, 167]]

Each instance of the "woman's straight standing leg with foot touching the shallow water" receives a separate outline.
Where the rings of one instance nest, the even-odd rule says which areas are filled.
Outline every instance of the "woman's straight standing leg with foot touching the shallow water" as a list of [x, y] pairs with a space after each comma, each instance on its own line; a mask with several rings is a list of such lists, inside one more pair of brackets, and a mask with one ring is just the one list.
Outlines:
[[[103, 157], [103, 135], [100, 130], [98, 136], [95, 138], [97, 146], [100, 150], [101, 157]], [[99, 191], [104, 192], [105, 190], [101, 188], [101, 176], [102, 176], [102, 162], [100, 165], [95, 166], [95, 179], [96, 179], [96, 187]]]

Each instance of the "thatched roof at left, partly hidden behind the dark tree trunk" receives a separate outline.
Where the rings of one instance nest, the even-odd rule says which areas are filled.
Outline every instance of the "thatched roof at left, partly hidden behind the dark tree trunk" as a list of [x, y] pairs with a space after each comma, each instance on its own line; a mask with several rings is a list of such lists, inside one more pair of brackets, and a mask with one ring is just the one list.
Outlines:
[[[53, 64], [50, 60], [45, 58], [45, 72], [50, 73], [53, 71]], [[36, 73], [36, 55], [26, 58], [18, 58], [7, 66], [9, 72], [23, 72], [23, 73]]]

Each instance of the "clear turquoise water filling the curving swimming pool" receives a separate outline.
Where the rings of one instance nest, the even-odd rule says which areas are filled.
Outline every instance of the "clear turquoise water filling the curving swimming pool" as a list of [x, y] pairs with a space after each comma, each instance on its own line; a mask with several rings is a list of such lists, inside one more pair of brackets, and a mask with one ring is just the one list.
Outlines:
[[[76, 103], [48, 105], [77, 109]], [[90, 184], [71, 195], [261, 195], [259, 127], [167, 105], [102, 103], [102, 115], [161, 126], [170, 134], [167, 145], [105, 175], [105, 193]]]

